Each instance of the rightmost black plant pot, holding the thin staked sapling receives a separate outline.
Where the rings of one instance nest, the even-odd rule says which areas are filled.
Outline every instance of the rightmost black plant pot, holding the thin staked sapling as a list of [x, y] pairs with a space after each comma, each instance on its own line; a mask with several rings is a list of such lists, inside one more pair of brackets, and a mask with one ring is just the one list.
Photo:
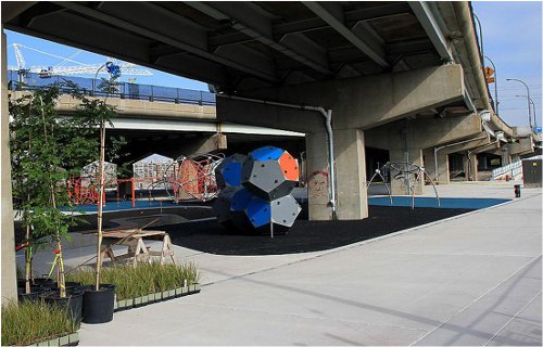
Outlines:
[[113, 320], [115, 285], [100, 284], [100, 290], [86, 291], [83, 299], [83, 322], [89, 324], [106, 323]]

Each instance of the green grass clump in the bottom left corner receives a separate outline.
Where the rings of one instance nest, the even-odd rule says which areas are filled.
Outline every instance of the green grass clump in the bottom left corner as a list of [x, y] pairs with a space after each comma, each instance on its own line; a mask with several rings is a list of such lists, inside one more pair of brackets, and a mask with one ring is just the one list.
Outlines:
[[26, 300], [2, 306], [2, 346], [26, 346], [76, 330], [68, 312], [54, 305]]

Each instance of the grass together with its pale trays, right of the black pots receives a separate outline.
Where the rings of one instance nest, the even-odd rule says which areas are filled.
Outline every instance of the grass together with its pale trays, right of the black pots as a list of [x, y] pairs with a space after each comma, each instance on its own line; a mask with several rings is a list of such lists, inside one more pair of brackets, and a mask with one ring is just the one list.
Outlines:
[[[94, 283], [94, 272], [78, 270], [68, 274], [68, 281]], [[161, 265], [160, 262], [103, 268], [101, 280], [115, 285], [115, 311], [141, 307], [156, 301], [200, 292], [200, 273], [197, 267]]]

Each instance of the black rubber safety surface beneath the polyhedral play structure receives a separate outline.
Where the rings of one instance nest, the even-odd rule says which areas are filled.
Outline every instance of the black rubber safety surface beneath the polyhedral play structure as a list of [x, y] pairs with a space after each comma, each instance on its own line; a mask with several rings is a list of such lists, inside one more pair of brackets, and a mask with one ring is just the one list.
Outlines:
[[[369, 218], [349, 221], [296, 220], [286, 235], [243, 234], [216, 221], [162, 226], [178, 246], [217, 255], [279, 255], [337, 248], [472, 209], [369, 206]], [[159, 228], [156, 228], [159, 229]]]

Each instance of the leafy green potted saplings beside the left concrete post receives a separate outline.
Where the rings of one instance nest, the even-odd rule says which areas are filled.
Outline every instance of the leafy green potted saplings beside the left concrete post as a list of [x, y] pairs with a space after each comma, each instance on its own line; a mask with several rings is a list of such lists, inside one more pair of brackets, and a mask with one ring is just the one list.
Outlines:
[[[34, 249], [38, 240], [47, 237], [56, 247], [53, 267], [56, 267], [61, 297], [66, 295], [61, 239], [67, 237], [68, 228], [78, 221], [73, 214], [66, 214], [66, 210], [74, 209], [66, 180], [72, 175], [79, 175], [86, 164], [100, 157], [105, 137], [101, 136], [99, 152], [97, 133], [104, 134], [105, 123], [115, 115], [114, 108], [105, 101], [90, 100], [77, 86], [66, 85], [72, 88], [73, 97], [81, 101], [72, 117], [60, 117], [56, 113], [54, 104], [60, 90], [55, 85], [10, 101], [14, 207], [26, 228], [23, 242], [26, 292], [29, 293], [30, 288]], [[112, 141], [116, 143], [116, 151], [124, 143], [124, 140]], [[110, 155], [117, 154], [111, 151]]]

